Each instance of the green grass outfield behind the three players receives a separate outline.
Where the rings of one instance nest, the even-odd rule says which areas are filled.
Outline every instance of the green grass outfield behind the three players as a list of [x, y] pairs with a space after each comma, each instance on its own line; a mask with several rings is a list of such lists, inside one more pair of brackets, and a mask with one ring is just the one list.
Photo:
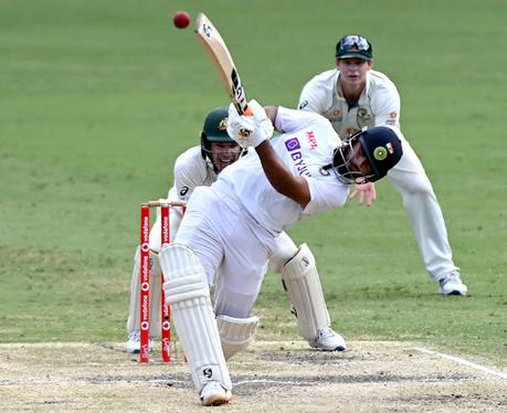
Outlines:
[[[226, 95], [176, 10], [220, 29], [250, 98], [294, 106], [367, 35], [402, 97], [402, 126], [442, 204], [469, 296], [440, 297], [400, 198], [378, 186], [291, 231], [319, 265], [332, 326], [350, 340], [421, 341], [506, 366], [507, 3], [267, 1], [0, 2], [0, 341], [123, 340], [139, 203]], [[266, 277], [260, 337], [294, 337]]]

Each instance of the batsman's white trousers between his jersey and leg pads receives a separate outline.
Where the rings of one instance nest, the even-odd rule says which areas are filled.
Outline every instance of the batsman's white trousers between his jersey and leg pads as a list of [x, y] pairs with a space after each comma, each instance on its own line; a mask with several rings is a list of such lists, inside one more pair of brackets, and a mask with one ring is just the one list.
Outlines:
[[190, 197], [175, 243], [190, 247], [214, 280], [214, 311], [246, 318], [257, 298], [276, 239], [241, 201], [213, 187], [198, 187]]

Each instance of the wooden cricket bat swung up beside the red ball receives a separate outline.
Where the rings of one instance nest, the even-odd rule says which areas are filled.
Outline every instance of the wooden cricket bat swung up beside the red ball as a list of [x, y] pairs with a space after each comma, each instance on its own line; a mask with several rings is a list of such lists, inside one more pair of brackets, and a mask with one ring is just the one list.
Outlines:
[[252, 115], [246, 94], [241, 84], [234, 61], [216, 28], [204, 13], [199, 13], [196, 21], [196, 34], [211, 56], [225, 91], [240, 115]]

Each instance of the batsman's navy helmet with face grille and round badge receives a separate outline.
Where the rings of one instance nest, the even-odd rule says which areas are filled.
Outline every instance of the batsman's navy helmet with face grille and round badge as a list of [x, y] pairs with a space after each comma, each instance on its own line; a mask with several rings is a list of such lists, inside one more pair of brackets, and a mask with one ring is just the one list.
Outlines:
[[[362, 153], [368, 159], [371, 173], [365, 174], [353, 168], [356, 142], [361, 145]], [[331, 168], [337, 172], [340, 182], [366, 183], [374, 182], [385, 177], [403, 155], [401, 140], [397, 133], [387, 126], [377, 126], [363, 129], [341, 141], [341, 146], [335, 149]], [[329, 169], [325, 167], [325, 169]]]

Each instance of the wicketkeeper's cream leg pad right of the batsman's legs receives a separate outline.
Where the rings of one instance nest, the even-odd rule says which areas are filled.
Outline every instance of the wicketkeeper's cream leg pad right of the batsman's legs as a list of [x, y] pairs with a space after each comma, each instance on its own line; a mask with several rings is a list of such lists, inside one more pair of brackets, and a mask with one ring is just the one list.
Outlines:
[[330, 324], [323, 287], [308, 245], [302, 244], [297, 254], [282, 271], [285, 289], [297, 316], [299, 333], [307, 340]]

